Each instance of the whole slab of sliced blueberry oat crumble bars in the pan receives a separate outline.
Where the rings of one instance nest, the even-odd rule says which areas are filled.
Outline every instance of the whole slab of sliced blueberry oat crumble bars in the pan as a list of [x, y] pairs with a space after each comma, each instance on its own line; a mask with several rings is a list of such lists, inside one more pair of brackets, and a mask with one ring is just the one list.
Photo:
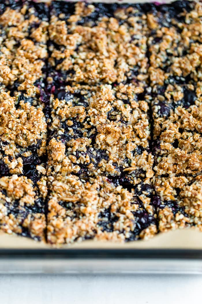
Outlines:
[[0, 231], [202, 230], [202, 2], [0, 0]]

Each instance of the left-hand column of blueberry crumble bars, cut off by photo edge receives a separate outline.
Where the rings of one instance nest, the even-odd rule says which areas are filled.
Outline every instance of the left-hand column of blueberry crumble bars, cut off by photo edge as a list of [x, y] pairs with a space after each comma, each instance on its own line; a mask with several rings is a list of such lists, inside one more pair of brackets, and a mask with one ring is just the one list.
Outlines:
[[45, 240], [48, 6], [0, 1], [0, 230]]

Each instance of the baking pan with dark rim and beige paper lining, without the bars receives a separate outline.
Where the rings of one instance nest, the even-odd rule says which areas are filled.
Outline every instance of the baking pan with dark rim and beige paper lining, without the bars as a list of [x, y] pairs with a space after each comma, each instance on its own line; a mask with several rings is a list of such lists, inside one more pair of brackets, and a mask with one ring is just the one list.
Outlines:
[[149, 241], [119, 244], [88, 240], [61, 248], [0, 233], [0, 273], [202, 274], [202, 233], [192, 228], [160, 233]]

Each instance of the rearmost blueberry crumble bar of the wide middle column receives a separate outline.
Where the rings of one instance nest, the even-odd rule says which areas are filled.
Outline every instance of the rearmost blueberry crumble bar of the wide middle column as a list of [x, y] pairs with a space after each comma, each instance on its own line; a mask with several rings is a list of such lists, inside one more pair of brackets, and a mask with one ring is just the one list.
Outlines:
[[53, 1], [50, 8], [48, 81], [146, 81], [148, 30], [140, 5]]

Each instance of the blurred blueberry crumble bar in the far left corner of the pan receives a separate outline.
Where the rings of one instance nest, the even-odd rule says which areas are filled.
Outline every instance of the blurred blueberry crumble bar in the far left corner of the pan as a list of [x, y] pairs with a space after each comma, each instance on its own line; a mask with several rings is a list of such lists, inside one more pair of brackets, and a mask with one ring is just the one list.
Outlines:
[[48, 57], [48, 6], [9, 2], [0, 8], [0, 85], [17, 90], [30, 81], [40, 86]]

